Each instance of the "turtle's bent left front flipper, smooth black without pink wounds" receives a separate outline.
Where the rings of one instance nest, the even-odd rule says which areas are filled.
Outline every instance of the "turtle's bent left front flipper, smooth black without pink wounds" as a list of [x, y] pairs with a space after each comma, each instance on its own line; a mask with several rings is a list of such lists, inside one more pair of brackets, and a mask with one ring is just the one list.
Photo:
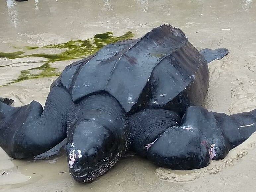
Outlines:
[[44, 109], [32, 101], [11, 107], [0, 102], [0, 146], [12, 158], [42, 154], [66, 138], [66, 117], [72, 108], [70, 95], [53, 87]]

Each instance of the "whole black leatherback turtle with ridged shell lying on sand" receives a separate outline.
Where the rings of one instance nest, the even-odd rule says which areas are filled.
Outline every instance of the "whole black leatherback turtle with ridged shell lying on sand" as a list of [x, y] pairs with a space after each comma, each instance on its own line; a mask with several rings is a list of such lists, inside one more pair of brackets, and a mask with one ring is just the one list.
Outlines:
[[22, 159], [67, 137], [69, 171], [78, 182], [106, 173], [128, 148], [175, 170], [205, 167], [256, 130], [256, 111], [228, 116], [201, 107], [207, 63], [227, 54], [198, 51], [170, 25], [108, 44], [64, 69], [44, 109], [36, 101], [17, 108], [0, 102], [0, 146]]

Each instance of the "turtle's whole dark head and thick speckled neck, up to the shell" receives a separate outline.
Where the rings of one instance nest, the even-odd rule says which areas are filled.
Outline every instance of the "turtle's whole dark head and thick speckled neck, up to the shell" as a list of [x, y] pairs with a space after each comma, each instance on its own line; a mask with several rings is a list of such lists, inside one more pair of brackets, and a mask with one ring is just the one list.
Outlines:
[[81, 100], [69, 112], [66, 152], [71, 176], [88, 182], [107, 172], [131, 144], [118, 101], [107, 93]]

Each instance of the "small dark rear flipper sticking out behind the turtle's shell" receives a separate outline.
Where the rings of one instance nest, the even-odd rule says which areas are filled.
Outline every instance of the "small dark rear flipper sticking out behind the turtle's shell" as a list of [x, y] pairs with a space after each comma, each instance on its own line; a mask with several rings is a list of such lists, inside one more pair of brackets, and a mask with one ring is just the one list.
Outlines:
[[210, 63], [214, 60], [219, 60], [226, 56], [229, 53], [229, 50], [226, 48], [219, 48], [219, 49], [202, 49], [199, 51], [206, 59], [207, 63]]

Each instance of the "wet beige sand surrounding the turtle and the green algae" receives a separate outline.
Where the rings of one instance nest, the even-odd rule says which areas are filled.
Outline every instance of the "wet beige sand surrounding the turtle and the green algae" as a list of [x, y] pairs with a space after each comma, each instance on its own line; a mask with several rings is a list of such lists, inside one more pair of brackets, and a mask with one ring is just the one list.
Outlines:
[[[234, 114], [255, 108], [254, 0], [6, 0], [0, 5], [0, 52], [83, 40], [107, 31], [115, 36], [132, 31], [135, 37], [140, 37], [163, 23], [181, 28], [198, 49], [230, 50], [225, 59], [209, 64], [210, 86], [205, 101], [208, 110]], [[26, 50], [26, 54], [33, 51], [36, 52]], [[34, 57], [1, 58], [0, 66], [8, 66], [0, 68], [0, 84], [7, 84], [17, 78], [21, 70], [43, 62], [42, 58]], [[71, 62], [73, 60], [54, 62], [51, 66], [61, 71]], [[14, 106], [32, 100], [44, 105], [55, 79], [45, 77], [2, 86], [0, 95], [14, 99]], [[256, 134], [253, 134], [224, 160], [212, 161], [200, 170], [167, 170], [137, 156], [125, 157], [90, 184], [76, 183], [69, 176], [65, 156], [28, 162], [12, 160], [0, 149], [0, 191], [254, 191], [255, 142]]]

